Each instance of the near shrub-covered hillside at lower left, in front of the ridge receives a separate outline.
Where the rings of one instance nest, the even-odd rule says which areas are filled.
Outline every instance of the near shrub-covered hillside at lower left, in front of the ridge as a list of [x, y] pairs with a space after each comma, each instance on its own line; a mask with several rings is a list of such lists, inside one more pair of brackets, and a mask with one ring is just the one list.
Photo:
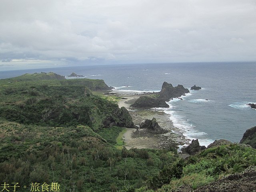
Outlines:
[[[0, 132], [0, 180], [22, 186], [55, 181], [61, 191], [139, 188], [164, 164], [176, 160], [168, 150], [118, 150], [116, 136], [108, 143], [101, 132], [88, 126], [49, 127], [1, 120]], [[104, 129], [104, 135], [108, 139], [112, 129]]]

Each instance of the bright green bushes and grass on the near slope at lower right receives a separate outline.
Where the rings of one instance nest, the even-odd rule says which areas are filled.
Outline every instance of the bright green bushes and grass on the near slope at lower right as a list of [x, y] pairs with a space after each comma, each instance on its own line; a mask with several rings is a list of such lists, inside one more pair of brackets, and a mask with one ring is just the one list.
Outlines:
[[256, 166], [255, 149], [240, 144], [213, 147], [190, 156], [186, 161], [180, 159], [164, 167], [147, 181], [146, 188], [166, 192], [187, 185], [196, 189], [227, 174], [242, 172], [249, 166]]

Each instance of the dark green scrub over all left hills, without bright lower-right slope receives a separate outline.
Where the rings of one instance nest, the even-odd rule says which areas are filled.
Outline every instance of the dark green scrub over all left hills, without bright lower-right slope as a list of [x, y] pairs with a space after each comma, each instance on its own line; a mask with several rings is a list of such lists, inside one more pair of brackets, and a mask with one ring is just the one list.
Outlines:
[[105, 127], [131, 124], [131, 117], [88, 88], [102, 82], [47, 74], [0, 80], [1, 182], [55, 181], [61, 191], [105, 192], [139, 188], [157, 174], [167, 150], [116, 148], [124, 128]]

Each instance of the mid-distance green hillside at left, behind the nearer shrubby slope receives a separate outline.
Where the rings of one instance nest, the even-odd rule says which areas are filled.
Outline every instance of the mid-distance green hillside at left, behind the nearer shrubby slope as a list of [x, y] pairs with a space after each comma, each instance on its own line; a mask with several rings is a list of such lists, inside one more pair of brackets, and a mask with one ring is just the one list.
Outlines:
[[[35, 76], [41, 76], [36, 74]], [[47, 74], [43, 74], [47, 75]], [[126, 124], [117, 104], [93, 95], [90, 87], [103, 80], [0, 80], [0, 117], [23, 124], [42, 126], [90, 126], [98, 130], [110, 122]], [[105, 84], [106, 85], [106, 84]], [[121, 111], [122, 112], [122, 111]]]

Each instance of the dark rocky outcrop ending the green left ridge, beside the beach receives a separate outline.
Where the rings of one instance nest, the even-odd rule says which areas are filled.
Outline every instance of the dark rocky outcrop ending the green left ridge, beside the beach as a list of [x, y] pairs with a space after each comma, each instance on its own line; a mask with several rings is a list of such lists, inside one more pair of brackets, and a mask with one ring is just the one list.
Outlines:
[[125, 107], [117, 108], [112, 116], [108, 116], [103, 121], [104, 127], [127, 127], [127, 128], [135, 128], [135, 125], [132, 121], [132, 116], [130, 116], [128, 110]]

